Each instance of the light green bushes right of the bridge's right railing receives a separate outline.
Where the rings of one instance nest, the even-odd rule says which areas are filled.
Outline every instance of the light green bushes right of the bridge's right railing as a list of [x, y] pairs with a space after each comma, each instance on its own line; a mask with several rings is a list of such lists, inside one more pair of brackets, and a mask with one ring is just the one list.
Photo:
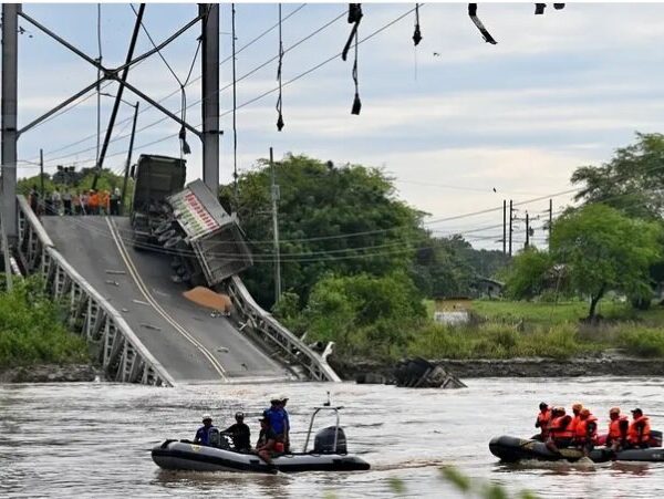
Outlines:
[[424, 320], [425, 308], [404, 273], [326, 277], [311, 292], [303, 316], [310, 339], [334, 341], [340, 352], [394, 356]]

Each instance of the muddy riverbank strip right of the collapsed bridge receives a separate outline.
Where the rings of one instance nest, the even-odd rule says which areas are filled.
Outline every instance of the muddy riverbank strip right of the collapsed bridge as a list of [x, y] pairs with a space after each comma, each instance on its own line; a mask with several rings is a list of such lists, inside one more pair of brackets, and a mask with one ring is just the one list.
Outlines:
[[[395, 362], [365, 358], [328, 358], [344, 381], [384, 378], [394, 381]], [[559, 358], [439, 358], [432, 360], [459, 378], [473, 377], [578, 377], [578, 376], [664, 376], [664, 358], [642, 358], [620, 354]]]

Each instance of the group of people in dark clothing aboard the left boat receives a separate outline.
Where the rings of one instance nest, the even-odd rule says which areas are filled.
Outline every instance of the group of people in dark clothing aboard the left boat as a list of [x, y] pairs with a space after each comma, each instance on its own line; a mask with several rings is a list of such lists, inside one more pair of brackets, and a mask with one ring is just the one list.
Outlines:
[[270, 407], [262, 413], [260, 433], [256, 447], [251, 447], [251, 430], [245, 424], [245, 414], [236, 413], [236, 423], [222, 432], [212, 425], [209, 414], [203, 416], [203, 426], [196, 432], [195, 444], [211, 447], [222, 447], [221, 436], [229, 436], [234, 450], [253, 453], [268, 465], [272, 465], [272, 456], [290, 451], [290, 419], [286, 404], [288, 397], [278, 395], [271, 398]]

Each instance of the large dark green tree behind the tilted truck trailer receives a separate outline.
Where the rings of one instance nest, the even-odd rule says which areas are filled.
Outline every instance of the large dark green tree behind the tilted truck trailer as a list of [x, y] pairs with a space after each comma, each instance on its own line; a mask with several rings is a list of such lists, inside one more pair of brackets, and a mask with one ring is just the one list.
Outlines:
[[[425, 233], [422, 216], [395, 196], [392, 179], [380, 169], [334, 166], [307, 156], [287, 155], [276, 164], [280, 187], [279, 232], [283, 289], [307, 303], [325, 274], [385, 276], [406, 271]], [[237, 211], [256, 264], [242, 279], [257, 301], [273, 303], [270, 167], [240, 175], [220, 189], [222, 205]]]

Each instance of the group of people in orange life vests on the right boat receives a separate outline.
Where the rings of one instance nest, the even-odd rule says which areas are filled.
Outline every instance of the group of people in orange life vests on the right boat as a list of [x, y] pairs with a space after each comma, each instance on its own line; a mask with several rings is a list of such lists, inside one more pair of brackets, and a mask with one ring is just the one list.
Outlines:
[[632, 409], [632, 420], [622, 415], [620, 407], [609, 410], [609, 428], [605, 438], [598, 435], [598, 418], [582, 404], [572, 405], [572, 415], [564, 407], [551, 407], [544, 402], [539, 406], [535, 427], [540, 429], [537, 439], [544, 441], [552, 453], [563, 447], [577, 447], [588, 457], [595, 445], [604, 444], [614, 453], [627, 448], [649, 447], [651, 427], [649, 418], [640, 408]]

